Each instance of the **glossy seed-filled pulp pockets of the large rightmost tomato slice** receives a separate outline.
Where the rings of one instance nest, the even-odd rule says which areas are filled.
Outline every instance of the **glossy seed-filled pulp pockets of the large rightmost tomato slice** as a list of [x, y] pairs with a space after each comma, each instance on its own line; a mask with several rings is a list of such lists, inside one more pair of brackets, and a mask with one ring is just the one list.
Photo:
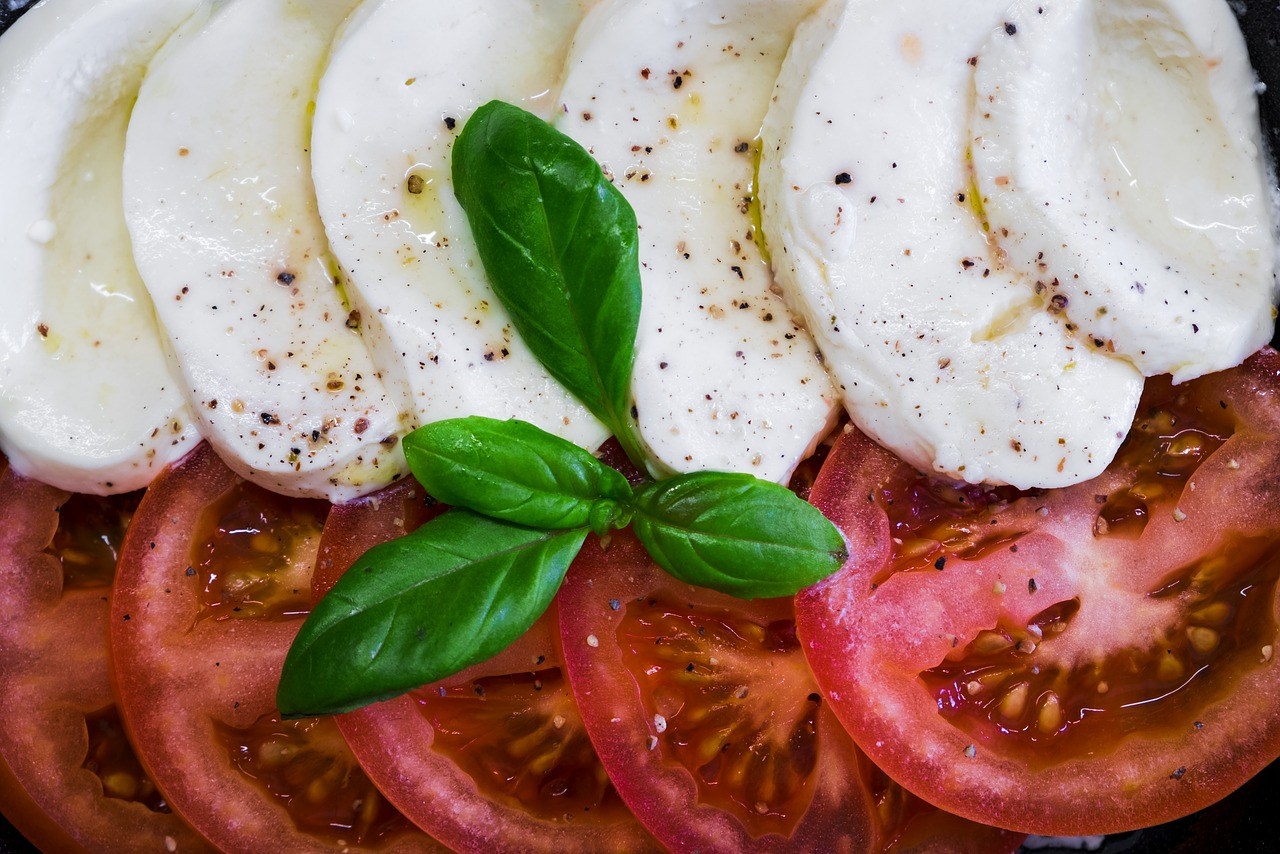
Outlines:
[[[1156, 502], [1181, 493], [1201, 462], [1234, 434], [1222, 407], [1202, 402], [1153, 380], [1114, 469], [1128, 481], [1098, 503], [1096, 538], [1137, 538]], [[881, 580], [902, 571], [943, 570], [951, 558], [980, 560], [996, 548], [1016, 553], [1025, 533], [1000, 525], [1012, 501], [1043, 493], [1009, 488], [954, 488], [915, 475], [909, 501], [882, 494], [895, 534], [890, 567]], [[1076, 666], [1043, 665], [1039, 658], [1071, 627], [1080, 602], [1069, 599], [1036, 615], [1025, 625], [984, 630], [959, 653], [922, 673], [938, 709], [955, 726], [984, 735], [1000, 732], [1011, 744], [1051, 740], [1053, 761], [1084, 754], [1097, 740], [1123, 737], [1152, 727], [1151, 705], [1160, 703], [1181, 725], [1179, 700], [1193, 682], [1201, 697], [1221, 697], [1220, 671], [1235, 670], [1234, 657], [1258, 656], [1276, 624], [1277, 540], [1228, 543], [1220, 554], [1181, 567], [1148, 592], [1152, 599], [1179, 599], [1178, 622], [1144, 648], [1112, 650], [1101, 661]], [[1034, 579], [1028, 583], [1034, 585]], [[1224, 634], [1224, 627], [1226, 632]], [[1041, 649], [1042, 656], [1033, 653]], [[1023, 753], [1030, 767], [1052, 764], [1036, 749]]]

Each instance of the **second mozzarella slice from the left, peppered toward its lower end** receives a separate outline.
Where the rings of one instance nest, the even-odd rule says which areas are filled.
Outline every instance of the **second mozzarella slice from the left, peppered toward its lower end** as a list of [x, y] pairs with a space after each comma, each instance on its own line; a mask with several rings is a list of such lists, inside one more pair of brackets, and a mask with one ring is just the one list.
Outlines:
[[124, 168], [138, 268], [210, 443], [250, 480], [333, 501], [399, 476], [407, 428], [307, 168], [316, 74], [353, 5], [233, 0], [180, 32], [142, 86]]

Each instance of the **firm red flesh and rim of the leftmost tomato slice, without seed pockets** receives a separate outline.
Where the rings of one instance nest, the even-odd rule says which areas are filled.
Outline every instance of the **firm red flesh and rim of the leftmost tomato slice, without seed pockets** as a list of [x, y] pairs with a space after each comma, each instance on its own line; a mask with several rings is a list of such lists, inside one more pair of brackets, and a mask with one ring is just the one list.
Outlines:
[[63, 590], [45, 549], [68, 494], [23, 478], [0, 458], [0, 808], [50, 851], [206, 850], [170, 813], [105, 798], [83, 767], [84, 718], [113, 702], [105, 590]]

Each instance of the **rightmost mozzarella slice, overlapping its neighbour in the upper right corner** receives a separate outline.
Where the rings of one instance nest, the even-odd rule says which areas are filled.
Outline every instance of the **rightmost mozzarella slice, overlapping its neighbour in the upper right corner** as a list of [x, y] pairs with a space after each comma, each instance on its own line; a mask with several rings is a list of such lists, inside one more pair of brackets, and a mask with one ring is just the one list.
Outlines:
[[1222, 0], [1016, 3], [978, 55], [997, 242], [1094, 346], [1194, 379], [1271, 339], [1253, 69]]

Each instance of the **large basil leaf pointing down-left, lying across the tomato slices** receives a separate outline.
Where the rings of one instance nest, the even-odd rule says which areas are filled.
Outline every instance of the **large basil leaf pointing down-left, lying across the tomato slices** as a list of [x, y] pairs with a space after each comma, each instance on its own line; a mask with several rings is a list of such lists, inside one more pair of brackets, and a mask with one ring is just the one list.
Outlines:
[[547, 611], [585, 539], [453, 510], [370, 549], [302, 624], [280, 712], [347, 712], [492, 658]]

